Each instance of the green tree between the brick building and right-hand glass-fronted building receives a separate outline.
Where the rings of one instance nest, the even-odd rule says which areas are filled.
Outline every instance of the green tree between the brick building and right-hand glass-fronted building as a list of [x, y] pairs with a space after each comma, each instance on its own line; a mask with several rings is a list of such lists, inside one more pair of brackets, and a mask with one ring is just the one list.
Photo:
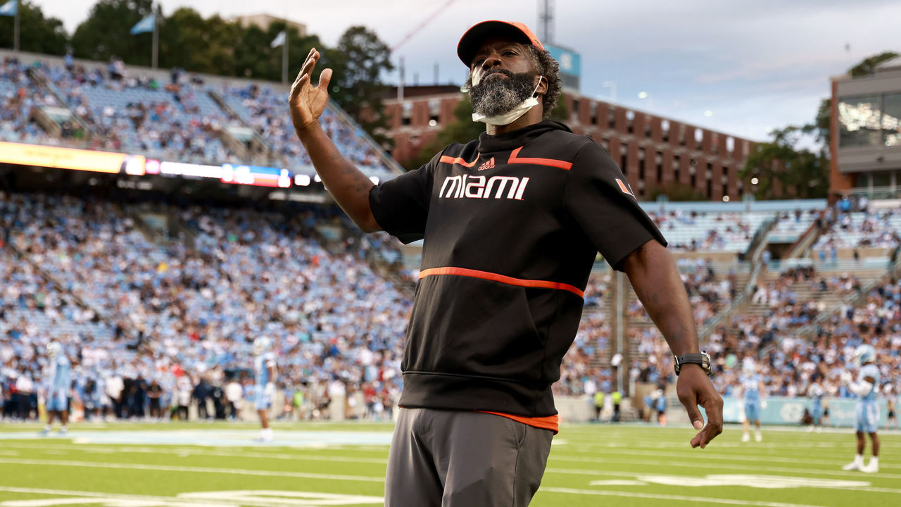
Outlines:
[[829, 162], [823, 152], [799, 149], [804, 127], [789, 125], [769, 134], [772, 141], [757, 144], [739, 173], [742, 180], [757, 178], [754, 195], [760, 199], [782, 195], [824, 198], [829, 190]]

